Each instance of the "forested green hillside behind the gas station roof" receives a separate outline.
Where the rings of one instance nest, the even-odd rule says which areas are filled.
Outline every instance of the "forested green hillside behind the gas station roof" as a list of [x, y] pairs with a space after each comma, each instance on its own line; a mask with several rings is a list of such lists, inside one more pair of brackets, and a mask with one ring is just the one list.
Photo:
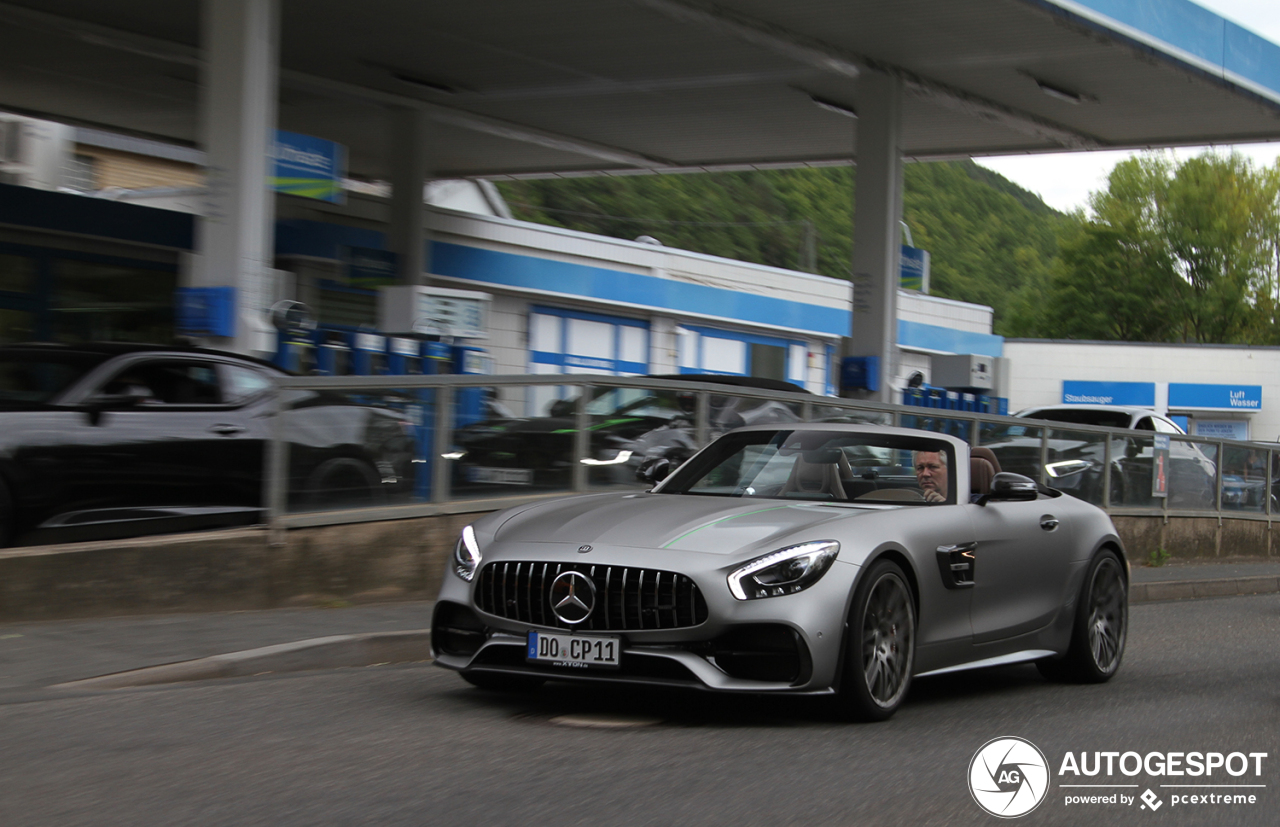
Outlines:
[[[849, 278], [852, 168], [576, 178], [499, 184], [517, 218], [740, 261]], [[904, 215], [937, 296], [989, 305], [1001, 332], [1048, 280], [1066, 221], [973, 161], [909, 164]]]

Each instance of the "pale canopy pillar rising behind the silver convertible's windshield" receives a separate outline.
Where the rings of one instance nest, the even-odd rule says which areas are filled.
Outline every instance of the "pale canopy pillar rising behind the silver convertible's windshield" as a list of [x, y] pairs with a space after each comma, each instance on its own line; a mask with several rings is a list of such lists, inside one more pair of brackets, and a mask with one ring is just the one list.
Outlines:
[[897, 283], [902, 219], [902, 84], [867, 72], [858, 78], [858, 183], [854, 193], [854, 314], [845, 356], [879, 357], [879, 389], [861, 398], [892, 402], [897, 374]]

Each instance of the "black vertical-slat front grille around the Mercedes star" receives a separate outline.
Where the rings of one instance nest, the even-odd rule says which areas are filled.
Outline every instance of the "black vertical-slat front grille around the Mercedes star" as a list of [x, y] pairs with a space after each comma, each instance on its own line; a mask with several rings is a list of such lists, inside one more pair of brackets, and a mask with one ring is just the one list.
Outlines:
[[[595, 608], [581, 623], [570, 625], [552, 612], [550, 586], [566, 571], [577, 571], [595, 584]], [[685, 575], [631, 566], [586, 563], [489, 563], [476, 582], [481, 612], [507, 620], [579, 631], [639, 631], [685, 629], [707, 621], [707, 600]]]

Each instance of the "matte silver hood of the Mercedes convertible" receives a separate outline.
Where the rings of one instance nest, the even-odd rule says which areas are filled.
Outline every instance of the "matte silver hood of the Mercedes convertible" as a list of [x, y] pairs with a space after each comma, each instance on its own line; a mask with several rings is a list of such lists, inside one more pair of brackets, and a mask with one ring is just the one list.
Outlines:
[[494, 539], [732, 554], [751, 547], [772, 548], [774, 543], [828, 539], [823, 524], [884, 508], [684, 494], [599, 494], [526, 507], [508, 516]]

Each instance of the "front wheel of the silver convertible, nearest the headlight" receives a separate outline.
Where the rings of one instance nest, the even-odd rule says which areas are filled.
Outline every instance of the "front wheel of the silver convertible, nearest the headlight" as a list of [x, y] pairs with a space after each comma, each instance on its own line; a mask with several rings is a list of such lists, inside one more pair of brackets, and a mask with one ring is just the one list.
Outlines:
[[915, 602], [902, 570], [881, 559], [863, 575], [845, 631], [844, 717], [884, 721], [901, 705], [915, 666]]

